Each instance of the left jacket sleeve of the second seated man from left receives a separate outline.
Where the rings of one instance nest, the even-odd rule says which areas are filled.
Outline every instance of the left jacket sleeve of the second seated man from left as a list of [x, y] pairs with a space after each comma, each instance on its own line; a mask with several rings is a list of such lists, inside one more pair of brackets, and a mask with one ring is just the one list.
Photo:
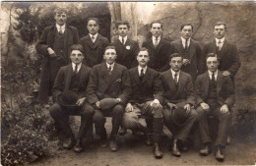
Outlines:
[[98, 83], [97, 80], [98, 80], [98, 76], [97, 76], [96, 68], [93, 68], [90, 75], [89, 83], [87, 86], [87, 92], [86, 92], [87, 99], [90, 104], [94, 104], [96, 103], [96, 101], [98, 101], [98, 97], [96, 95], [97, 83]]

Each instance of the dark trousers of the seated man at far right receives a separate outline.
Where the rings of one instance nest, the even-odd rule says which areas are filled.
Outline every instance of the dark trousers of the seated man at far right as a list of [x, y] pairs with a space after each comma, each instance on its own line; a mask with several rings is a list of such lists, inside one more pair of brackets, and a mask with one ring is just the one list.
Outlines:
[[215, 124], [216, 126], [218, 126], [218, 134], [215, 145], [225, 146], [231, 122], [230, 112], [222, 113], [222, 106], [220, 104], [209, 104], [209, 106], [209, 111], [203, 110], [201, 106], [197, 108], [197, 112], [199, 115], [198, 128], [200, 138], [202, 139], [203, 143], [211, 142], [208, 118], [209, 116], [213, 116], [213, 118], [216, 118], [218, 120], [218, 123]]

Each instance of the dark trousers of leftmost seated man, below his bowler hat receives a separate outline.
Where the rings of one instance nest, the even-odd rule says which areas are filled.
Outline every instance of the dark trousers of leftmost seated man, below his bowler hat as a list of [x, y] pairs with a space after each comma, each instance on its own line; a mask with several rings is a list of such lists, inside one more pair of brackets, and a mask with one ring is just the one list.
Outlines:
[[74, 138], [72, 130], [69, 125], [70, 115], [81, 116], [81, 125], [78, 134], [78, 140], [81, 140], [87, 132], [93, 126], [93, 115], [94, 108], [88, 104], [84, 103], [82, 106], [61, 106], [58, 103], [54, 103], [50, 108], [49, 112], [53, 120], [55, 121], [56, 130], [59, 130], [60, 138]]

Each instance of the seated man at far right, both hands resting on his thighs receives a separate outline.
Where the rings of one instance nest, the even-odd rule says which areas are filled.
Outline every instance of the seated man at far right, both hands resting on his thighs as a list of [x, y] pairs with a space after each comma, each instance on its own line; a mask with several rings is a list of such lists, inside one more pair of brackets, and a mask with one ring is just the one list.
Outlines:
[[224, 76], [218, 70], [219, 61], [215, 53], [207, 54], [206, 64], [208, 71], [200, 75], [195, 84], [199, 132], [204, 143], [200, 154], [208, 155], [211, 152], [212, 140], [207, 117], [212, 115], [219, 120], [215, 157], [219, 161], [224, 161], [223, 149], [231, 120], [230, 107], [234, 103], [233, 84], [228, 76]]

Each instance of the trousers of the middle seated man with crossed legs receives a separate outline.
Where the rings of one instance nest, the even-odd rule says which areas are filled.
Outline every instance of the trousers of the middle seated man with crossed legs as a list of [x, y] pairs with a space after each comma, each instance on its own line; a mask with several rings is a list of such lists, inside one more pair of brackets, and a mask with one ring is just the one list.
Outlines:
[[123, 117], [123, 126], [127, 129], [131, 130], [139, 130], [143, 133], [148, 133], [151, 130], [144, 127], [139, 122], [139, 118], [141, 115], [145, 115], [150, 117], [152, 122], [152, 130], [153, 130], [153, 140], [155, 142], [160, 141], [160, 134], [163, 128], [163, 120], [162, 120], [162, 106], [158, 109], [154, 109], [151, 107], [152, 101], [147, 101], [144, 103], [135, 103], [133, 104], [133, 111], [126, 112]]

